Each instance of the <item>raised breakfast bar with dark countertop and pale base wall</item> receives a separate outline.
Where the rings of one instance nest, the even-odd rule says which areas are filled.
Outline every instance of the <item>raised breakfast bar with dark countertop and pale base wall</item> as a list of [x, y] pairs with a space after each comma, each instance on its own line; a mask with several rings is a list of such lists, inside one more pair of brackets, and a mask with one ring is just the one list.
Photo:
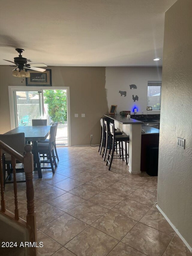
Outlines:
[[104, 116], [114, 122], [116, 129], [129, 135], [129, 172], [141, 173], [141, 126], [143, 122], [121, 115], [104, 114]]

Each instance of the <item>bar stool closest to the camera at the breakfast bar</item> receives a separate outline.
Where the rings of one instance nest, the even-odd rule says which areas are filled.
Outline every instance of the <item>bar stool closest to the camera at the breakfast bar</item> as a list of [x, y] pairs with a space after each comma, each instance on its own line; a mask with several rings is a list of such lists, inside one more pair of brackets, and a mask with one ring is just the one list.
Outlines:
[[[123, 142], [125, 142], [125, 159], [126, 159], [126, 164], [128, 164], [128, 158], [129, 158], [129, 146], [128, 146], [128, 152], [127, 152], [127, 143], [129, 145], [129, 135], [122, 134], [122, 135], [116, 135], [115, 134], [115, 126], [114, 124], [110, 123], [110, 134], [111, 134], [111, 140], [112, 143], [110, 143], [110, 148], [109, 148], [109, 155], [107, 158], [107, 164], [109, 164], [109, 170], [111, 169], [111, 164], [113, 161], [113, 155], [115, 151], [115, 145], [118, 142], [119, 143], [119, 148], [122, 151], [122, 160], [124, 161], [124, 149], [123, 149]], [[120, 147], [121, 143], [121, 147]], [[112, 153], [111, 153], [112, 151]], [[119, 158], [121, 159], [121, 158]]]

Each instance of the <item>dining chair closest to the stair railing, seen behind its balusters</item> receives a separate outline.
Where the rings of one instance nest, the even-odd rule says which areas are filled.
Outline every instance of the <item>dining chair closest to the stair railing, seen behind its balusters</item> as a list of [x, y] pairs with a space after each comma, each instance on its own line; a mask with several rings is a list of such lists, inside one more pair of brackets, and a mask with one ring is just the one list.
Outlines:
[[[5, 144], [10, 146], [19, 154], [24, 154], [24, 146], [25, 146], [25, 134], [23, 132], [16, 134], [0, 134], [0, 140]], [[19, 164], [19, 161], [16, 161], [16, 164]], [[7, 168], [6, 168], [7, 166]], [[2, 167], [3, 167], [3, 182], [4, 187], [7, 183], [13, 183], [11, 181], [13, 169], [11, 166], [11, 156], [4, 151], [2, 151]], [[7, 177], [6, 177], [7, 171]], [[16, 168], [16, 173], [24, 172], [23, 168]], [[9, 181], [7, 181], [9, 180]], [[26, 180], [17, 181], [17, 182], [26, 182]]]

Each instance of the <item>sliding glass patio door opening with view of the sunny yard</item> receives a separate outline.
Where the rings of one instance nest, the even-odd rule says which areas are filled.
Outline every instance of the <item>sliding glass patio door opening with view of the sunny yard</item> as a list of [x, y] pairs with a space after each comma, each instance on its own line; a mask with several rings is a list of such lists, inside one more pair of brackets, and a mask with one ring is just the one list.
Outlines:
[[[10, 86], [11, 87], [11, 86]], [[69, 146], [69, 89], [13, 87], [10, 92], [11, 128], [32, 125], [32, 119], [47, 119], [47, 125], [58, 122], [56, 145]], [[11, 96], [13, 99], [11, 100]], [[11, 111], [12, 110], [12, 111]], [[14, 118], [13, 118], [14, 116]]]

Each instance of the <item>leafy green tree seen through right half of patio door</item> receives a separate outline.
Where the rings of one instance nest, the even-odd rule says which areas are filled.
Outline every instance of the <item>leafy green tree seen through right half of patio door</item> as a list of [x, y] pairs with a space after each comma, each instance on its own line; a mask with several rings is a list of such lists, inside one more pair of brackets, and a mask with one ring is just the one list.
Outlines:
[[44, 103], [53, 122], [67, 121], [67, 93], [64, 90], [45, 90]]

